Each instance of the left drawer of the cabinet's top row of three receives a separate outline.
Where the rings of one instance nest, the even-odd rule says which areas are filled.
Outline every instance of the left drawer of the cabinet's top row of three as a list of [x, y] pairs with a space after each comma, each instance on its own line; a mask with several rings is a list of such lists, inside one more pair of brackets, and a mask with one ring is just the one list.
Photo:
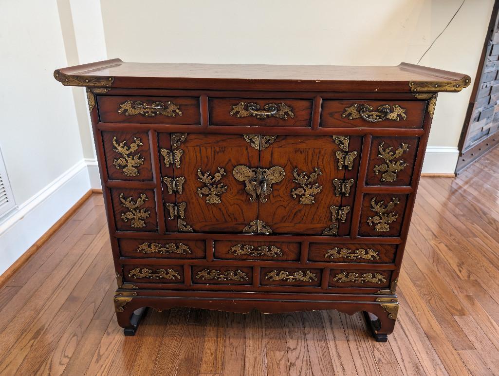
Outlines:
[[102, 122], [201, 123], [199, 98], [99, 95], [97, 102]]

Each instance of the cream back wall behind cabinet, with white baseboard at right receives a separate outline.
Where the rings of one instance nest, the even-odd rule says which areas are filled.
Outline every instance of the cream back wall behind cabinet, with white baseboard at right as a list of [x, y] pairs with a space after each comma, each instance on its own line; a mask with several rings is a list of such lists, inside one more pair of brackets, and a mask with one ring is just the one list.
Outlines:
[[[421, 65], [474, 79], [493, 2], [465, 1]], [[417, 63], [461, 3], [105, 0], [101, 7], [107, 54], [124, 61], [396, 65]], [[454, 172], [470, 94], [439, 95], [427, 172]]]

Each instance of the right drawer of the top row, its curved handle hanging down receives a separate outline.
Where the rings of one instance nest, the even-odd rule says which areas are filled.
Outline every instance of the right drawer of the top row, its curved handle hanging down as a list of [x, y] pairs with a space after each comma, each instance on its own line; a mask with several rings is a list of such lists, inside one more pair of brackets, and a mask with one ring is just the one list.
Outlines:
[[426, 102], [324, 100], [321, 127], [421, 128]]

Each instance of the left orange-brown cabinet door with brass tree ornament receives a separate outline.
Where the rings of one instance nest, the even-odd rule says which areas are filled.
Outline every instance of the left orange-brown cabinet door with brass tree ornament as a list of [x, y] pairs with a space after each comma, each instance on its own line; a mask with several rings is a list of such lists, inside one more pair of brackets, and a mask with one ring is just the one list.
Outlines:
[[176, 215], [170, 211], [174, 204], [165, 203], [167, 222], [178, 221], [180, 232], [243, 232], [256, 220], [258, 204], [247, 199], [245, 186], [234, 178], [233, 170], [238, 165], [258, 167], [258, 150], [242, 135], [178, 135], [172, 134], [172, 151], [177, 157], [181, 154], [179, 167], [173, 166], [173, 178], [182, 188], [174, 191]]

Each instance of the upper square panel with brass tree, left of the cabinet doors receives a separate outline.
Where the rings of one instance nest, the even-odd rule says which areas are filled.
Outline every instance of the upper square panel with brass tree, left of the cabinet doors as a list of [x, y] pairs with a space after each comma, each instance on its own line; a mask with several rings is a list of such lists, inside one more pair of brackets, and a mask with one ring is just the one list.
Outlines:
[[109, 180], [153, 180], [147, 132], [102, 132]]

